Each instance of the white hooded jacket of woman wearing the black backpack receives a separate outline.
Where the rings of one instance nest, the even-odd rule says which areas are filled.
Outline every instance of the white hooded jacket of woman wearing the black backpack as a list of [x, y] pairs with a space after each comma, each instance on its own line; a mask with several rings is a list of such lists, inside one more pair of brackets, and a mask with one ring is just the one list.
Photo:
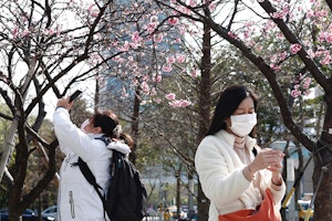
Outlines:
[[121, 149], [128, 154], [129, 147], [122, 143], [111, 143], [107, 147], [101, 139], [103, 134], [84, 134], [70, 119], [69, 112], [59, 107], [53, 115], [54, 130], [60, 149], [65, 154], [60, 170], [58, 197], [58, 220], [102, 221], [105, 220], [102, 201], [92, 185], [82, 175], [79, 156], [87, 164], [96, 182], [105, 190], [110, 185], [112, 151]]

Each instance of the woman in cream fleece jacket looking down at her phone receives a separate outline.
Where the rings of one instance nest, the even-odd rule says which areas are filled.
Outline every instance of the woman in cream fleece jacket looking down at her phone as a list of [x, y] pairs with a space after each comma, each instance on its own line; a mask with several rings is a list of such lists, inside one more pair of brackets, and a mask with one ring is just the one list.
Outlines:
[[240, 210], [258, 211], [267, 188], [276, 204], [284, 196], [280, 175], [283, 154], [259, 148], [253, 138], [257, 102], [257, 95], [245, 86], [226, 88], [207, 136], [197, 148], [195, 167], [210, 200], [209, 221]]

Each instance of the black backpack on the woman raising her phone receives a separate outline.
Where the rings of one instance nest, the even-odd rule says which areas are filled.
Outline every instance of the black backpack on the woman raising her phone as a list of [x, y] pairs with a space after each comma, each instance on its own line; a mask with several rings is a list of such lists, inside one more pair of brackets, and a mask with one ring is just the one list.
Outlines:
[[145, 215], [147, 194], [139, 172], [122, 152], [112, 151], [111, 185], [106, 196], [102, 193], [103, 190], [86, 162], [79, 158], [77, 165], [102, 199], [111, 221], [141, 221]]

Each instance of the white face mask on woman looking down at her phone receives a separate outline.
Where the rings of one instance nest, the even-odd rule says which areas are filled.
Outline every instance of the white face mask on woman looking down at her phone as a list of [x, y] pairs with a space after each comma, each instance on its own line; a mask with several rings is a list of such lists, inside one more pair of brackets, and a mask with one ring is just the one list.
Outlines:
[[230, 123], [231, 123], [231, 127], [230, 127], [231, 131], [239, 137], [245, 137], [249, 135], [253, 126], [257, 124], [257, 115], [256, 113], [231, 115]]

